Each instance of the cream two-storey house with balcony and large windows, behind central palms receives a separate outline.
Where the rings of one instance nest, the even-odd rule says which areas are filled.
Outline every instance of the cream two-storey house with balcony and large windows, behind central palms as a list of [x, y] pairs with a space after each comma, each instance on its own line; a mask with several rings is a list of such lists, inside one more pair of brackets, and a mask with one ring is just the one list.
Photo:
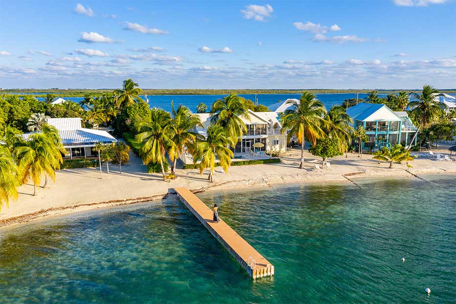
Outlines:
[[[210, 113], [196, 114], [201, 119], [202, 127], [196, 131], [206, 136], [207, 127], [211, 125]], [[277, 119], [276, 112], [248, 111], [248, 117], [240, 117], [246, 126], [246, 131], [231, 150], [235, 154], [255, 153], [264, 151], [285, 151], [286, 135], [281, 133], [282, 125]], [[258, 144], [261, 143], [261, 144]]]

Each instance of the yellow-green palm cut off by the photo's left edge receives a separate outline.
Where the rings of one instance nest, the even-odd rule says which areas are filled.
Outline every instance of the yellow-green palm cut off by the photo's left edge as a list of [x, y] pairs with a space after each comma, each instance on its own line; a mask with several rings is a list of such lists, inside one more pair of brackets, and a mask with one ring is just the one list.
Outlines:
[[3, 202], [8, 206], [10, 199], [18, 198], [18, 170], [11, 152], [0, 145], [0, 211]]

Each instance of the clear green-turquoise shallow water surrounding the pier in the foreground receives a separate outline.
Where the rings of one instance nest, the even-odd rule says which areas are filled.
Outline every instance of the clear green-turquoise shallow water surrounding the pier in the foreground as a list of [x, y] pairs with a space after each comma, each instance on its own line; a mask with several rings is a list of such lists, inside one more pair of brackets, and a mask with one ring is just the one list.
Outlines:
[[3, 229], [0, 303], [455, 303], [456, 177], [426, 178], [199, 195], [256, 281], [174, 198]]

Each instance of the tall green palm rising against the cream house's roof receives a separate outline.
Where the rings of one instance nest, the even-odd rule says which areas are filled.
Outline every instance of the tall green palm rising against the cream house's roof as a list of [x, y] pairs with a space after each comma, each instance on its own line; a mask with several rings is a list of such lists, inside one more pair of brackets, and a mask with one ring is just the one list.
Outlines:
[[236, 146], [243, 131], [247, 131], [242, 118], [248, 118], [248, 108], [242, 98], [235, 93], [231, 93], [223, 99], [219, 99], [212, 104], [211, 122], [222, 126], [226, 131], [226, 136], [230, 144]]

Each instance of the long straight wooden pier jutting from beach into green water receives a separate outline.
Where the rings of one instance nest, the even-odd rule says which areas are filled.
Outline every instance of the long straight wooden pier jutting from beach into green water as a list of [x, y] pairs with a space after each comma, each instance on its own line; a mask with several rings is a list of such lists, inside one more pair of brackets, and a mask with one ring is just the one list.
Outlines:
[[213, 221], [213, 212], [185, 187], [174, 188], [180, 201], [194, 214], [209, 232], [225, 247], [254, 279], [274, 275], [274, 266], [255, 250], [221, 218]]

